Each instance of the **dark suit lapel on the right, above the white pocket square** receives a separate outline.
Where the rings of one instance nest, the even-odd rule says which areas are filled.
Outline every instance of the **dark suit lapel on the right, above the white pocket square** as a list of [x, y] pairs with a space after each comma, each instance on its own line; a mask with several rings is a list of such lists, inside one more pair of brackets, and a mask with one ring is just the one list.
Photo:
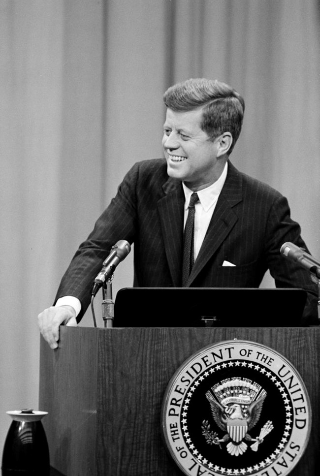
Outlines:
[[187, 286], [216, 253], [227, 235], [238, 220], [233, 207], [242, 200], [242, 177], [237, 169], [228, 162], [228, 174], [220, 193], [215, 211], [210, 221], [207, 234], [203, 240], [199, 254], [195, 260]]

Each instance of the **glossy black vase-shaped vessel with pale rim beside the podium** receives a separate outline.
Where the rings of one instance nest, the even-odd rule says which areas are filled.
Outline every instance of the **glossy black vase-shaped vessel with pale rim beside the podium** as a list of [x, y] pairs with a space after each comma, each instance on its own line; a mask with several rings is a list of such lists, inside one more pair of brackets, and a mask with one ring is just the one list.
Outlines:
[[49, 476], [49, 448], [41, 423], [47, 412], [7, 412], [11, 418], [2, 455], [2, 476]]

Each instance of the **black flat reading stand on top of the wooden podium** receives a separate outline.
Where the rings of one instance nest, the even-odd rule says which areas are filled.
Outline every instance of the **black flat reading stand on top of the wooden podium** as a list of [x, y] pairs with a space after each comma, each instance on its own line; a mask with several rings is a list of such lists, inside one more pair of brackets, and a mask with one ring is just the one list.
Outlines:
[[114, 327], [299, 327], [307, 293], [296, 288], [127, 287]]

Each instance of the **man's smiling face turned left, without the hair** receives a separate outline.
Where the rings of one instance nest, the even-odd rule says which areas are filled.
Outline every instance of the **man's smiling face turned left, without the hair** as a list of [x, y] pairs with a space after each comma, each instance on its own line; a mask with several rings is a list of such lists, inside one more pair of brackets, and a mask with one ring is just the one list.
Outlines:
[[208, 187], [222, 172], [217, 161], [219, 138], [210, 141], [200, 127], [201, 121], [201, 108], [183, 112], [167, 109], [163, 126], [162, 146], [167, 173], [169, 177], [183, 181], [191, 190]]

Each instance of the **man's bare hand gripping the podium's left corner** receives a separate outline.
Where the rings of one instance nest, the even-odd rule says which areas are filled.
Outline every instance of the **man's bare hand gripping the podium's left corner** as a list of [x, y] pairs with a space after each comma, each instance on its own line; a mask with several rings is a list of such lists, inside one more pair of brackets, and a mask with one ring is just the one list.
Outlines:
[[51, 349], [58, 347], [59, 326], [76, 326], [76, 312], [72, 306], [52, 306], [38, 315], [38, 326]]

